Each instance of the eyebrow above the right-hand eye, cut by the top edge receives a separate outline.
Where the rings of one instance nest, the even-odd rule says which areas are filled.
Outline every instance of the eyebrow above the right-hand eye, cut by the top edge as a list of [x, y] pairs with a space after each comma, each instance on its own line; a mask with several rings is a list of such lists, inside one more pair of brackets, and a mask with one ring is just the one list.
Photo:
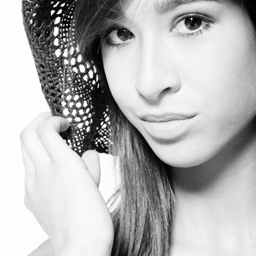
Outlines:
[[154, 3], [154, 7], [158, 13], [162, 14], [162, 13], [170, 12], [184, 4], [199, 3], [202, 1], [215, 1], [219, 3], [219, 0], [163, 0], [163, 1], [157, 1], [156, 3]]

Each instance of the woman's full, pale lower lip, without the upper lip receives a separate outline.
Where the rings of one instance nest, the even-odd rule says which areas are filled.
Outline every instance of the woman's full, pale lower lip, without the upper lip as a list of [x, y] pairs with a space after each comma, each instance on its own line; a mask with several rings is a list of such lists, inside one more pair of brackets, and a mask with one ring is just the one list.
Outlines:
[[194, 119], [195, 116], [182, 120], [165, 122], [144, 121], [143, 123], [145, 124], [145, 129], [152, 137], [159, 140], [170, 140], [183, 136], [189, 129], [189, 126], [192, 124]]

